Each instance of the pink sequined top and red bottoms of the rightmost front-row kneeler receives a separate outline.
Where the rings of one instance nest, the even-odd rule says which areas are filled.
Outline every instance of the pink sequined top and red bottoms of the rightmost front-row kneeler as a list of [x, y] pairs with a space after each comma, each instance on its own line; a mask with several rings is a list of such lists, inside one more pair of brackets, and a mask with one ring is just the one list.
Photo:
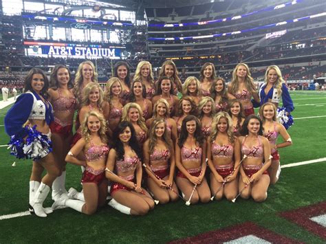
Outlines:
[[[248, 158], [263, 159], [263, 144], [261, 143], [260, 135], [258, 136], [258, 145], [252, 146], [252, 148], [248, 148], [248, 146], [245, 145], [246, 139], [247, 139], [247, 137], [245, 137], [243, 139], [243, 142], [241, 144], [242, 155], [247, 155]], [[257, 173], [262, 167], [263, 167], [263, 164], [261, 164], [261, 165], [242, 164], [242, 168], [248, 177], [251, 177], [254, 173]], [[268, 175], [267, 170], [265, 170], [263, 175]]]

